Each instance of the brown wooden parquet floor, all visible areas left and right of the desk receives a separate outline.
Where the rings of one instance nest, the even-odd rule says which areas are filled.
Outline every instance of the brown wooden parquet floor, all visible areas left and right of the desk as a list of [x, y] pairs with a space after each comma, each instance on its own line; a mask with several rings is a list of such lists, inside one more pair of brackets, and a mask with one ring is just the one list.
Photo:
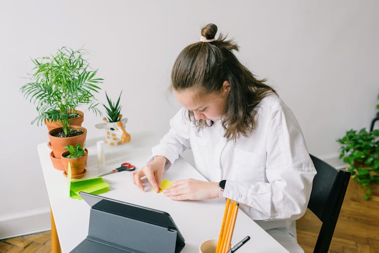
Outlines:
[[[306, 253], [313, 252], [321, 222], [308, 210], [296, 225], [300, 246]], [[1, 240], [0, 252], [51, 252], [51, 233]], [[360, 185], [350, 180], [329, 252], [379, 253], [379, 187], [365, 201]]]

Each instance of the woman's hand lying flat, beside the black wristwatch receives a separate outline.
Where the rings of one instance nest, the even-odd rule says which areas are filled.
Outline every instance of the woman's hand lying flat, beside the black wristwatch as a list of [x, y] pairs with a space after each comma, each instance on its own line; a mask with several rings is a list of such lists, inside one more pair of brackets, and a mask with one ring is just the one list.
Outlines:
[[173, 200], [203, 200], [218, 197], [218, 191], [218, 183], [184, 179], [176, 181], [163, 193]]

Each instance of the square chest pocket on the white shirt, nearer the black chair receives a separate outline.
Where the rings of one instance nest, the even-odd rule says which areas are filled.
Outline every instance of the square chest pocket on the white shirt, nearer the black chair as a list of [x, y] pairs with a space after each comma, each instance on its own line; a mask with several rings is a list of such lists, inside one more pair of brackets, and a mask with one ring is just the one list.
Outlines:
[[249, 184], [265, 182], [265, 160], [264, 154], [235, 148], [232, 173], [234, 180]]

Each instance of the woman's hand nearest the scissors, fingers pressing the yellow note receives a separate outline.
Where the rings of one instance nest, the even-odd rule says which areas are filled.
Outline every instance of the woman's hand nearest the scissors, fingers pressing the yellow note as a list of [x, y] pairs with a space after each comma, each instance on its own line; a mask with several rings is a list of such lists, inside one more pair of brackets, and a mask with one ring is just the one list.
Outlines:
[[137, 171], [133, 171], [130, 174], [131, 181], [138, 186], [139, 189], [145, 190], [145, 187], [141, 182], [141, 177], [146, 176], [155, 191], [158, 192], [161, 190], [161, 178], [167, 161], [167, 158], [163, 156], [156, 156], [149, 164]]

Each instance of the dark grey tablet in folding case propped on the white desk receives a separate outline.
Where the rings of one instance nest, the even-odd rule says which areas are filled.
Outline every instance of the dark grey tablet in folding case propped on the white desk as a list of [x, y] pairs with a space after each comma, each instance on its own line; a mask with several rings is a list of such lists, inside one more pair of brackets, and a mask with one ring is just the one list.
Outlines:
[[79, 192], [91, 207], [87, 237], [71, 252], [172, 252], [184, 238], [168, 213]]

